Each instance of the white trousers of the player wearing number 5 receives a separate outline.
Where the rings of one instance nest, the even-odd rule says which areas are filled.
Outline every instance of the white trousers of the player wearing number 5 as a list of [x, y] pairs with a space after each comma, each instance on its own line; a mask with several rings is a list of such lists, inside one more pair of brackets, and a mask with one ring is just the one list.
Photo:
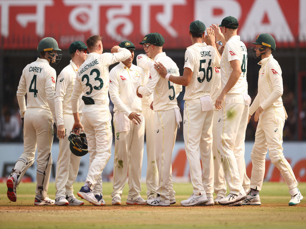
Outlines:
[[175, 199], [175, 192], [172, 184], [171, 159], [174, 149], [177, 123], [174, 109], [155, 111], [155, 152], [159, 174], [157, 193], [161, 200], [170, 204], [170, 199]]

